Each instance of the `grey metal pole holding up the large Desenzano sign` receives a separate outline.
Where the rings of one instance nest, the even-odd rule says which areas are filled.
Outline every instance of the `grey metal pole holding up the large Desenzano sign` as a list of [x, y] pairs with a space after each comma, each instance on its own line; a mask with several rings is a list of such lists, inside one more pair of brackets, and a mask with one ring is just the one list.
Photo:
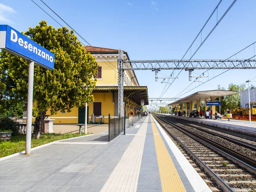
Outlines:
[[32, 130], [32, 106], [33, 106], [33, 85], [34, 85], [34, 61], [29, 61], [29, 82], [27, 101], [27, 123], [26, 123], [26, 155], [31, 153], [31, 130]]

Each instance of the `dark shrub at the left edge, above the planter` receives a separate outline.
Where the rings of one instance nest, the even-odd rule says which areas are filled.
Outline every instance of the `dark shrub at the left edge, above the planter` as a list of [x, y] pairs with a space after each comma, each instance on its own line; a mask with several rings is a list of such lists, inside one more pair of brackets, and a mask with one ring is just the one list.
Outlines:
[[12, 131], [13, 135], [19, 134], [20, 123], [9, 117], [0, 117], [0, 132]]

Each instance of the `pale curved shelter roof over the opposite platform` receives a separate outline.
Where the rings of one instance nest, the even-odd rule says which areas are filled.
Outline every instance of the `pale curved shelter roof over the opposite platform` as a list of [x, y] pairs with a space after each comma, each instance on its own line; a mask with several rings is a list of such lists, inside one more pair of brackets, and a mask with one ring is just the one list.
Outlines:
[[221, 97], [221, 96], [229, 96], [236, 94], [237, 91], [230, 91], [230, 90], [208, 90], [208, 91], [198, 91], [196, 93], [193, 93], [192, 95], [186, 96], [178, 101], [175, 101], [173, 103], [170, 103], [168, 105], [178, 105], [180, 103], [186, 103], [186, 102], [195, 102], [197, 99], [204, 101], [205, 99], [208, 100], [211, 97]]

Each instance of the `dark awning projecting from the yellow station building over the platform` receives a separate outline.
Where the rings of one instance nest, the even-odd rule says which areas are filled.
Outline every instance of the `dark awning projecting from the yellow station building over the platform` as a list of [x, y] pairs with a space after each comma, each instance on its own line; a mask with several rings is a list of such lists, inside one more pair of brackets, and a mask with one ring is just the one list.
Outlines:
[[[96, 86], [93, 93], [118, 93], [118, 86]], [[144, 105], [148, 105], [148, 88], [147, 86], [124, 86], [125, 96], [129, 96], [131, 100], [140, 105], [140, 101], [144, 99]]]

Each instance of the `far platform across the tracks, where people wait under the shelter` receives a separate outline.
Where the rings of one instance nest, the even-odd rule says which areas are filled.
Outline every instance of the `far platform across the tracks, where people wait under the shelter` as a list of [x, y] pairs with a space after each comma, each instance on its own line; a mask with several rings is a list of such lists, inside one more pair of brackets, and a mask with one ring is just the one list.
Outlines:
[[[170, 115], [170, 114], [164, 114], [164, 115]], [[194, 118], [194, 117], [186, 117], [186, 116], [175, 116], [172, 115], [175, 118], [180, 118], [180, 119], [186, 119], [187, 121], [191, 122], [197, 122], [197, 123], [202, 123], [205, 125], [214, 125], [219, 128], [225, 128], [229, 130], [236, 130], [236, 131], [242, 131], [250, 134], [256, 134], [256, 122], [251, 121], [243, 121], [243, 120], [236, 120], [236, 119], [230, 119], [228, 121], [227, 119], [205, 119], [204, 117], [202, 118]]]

